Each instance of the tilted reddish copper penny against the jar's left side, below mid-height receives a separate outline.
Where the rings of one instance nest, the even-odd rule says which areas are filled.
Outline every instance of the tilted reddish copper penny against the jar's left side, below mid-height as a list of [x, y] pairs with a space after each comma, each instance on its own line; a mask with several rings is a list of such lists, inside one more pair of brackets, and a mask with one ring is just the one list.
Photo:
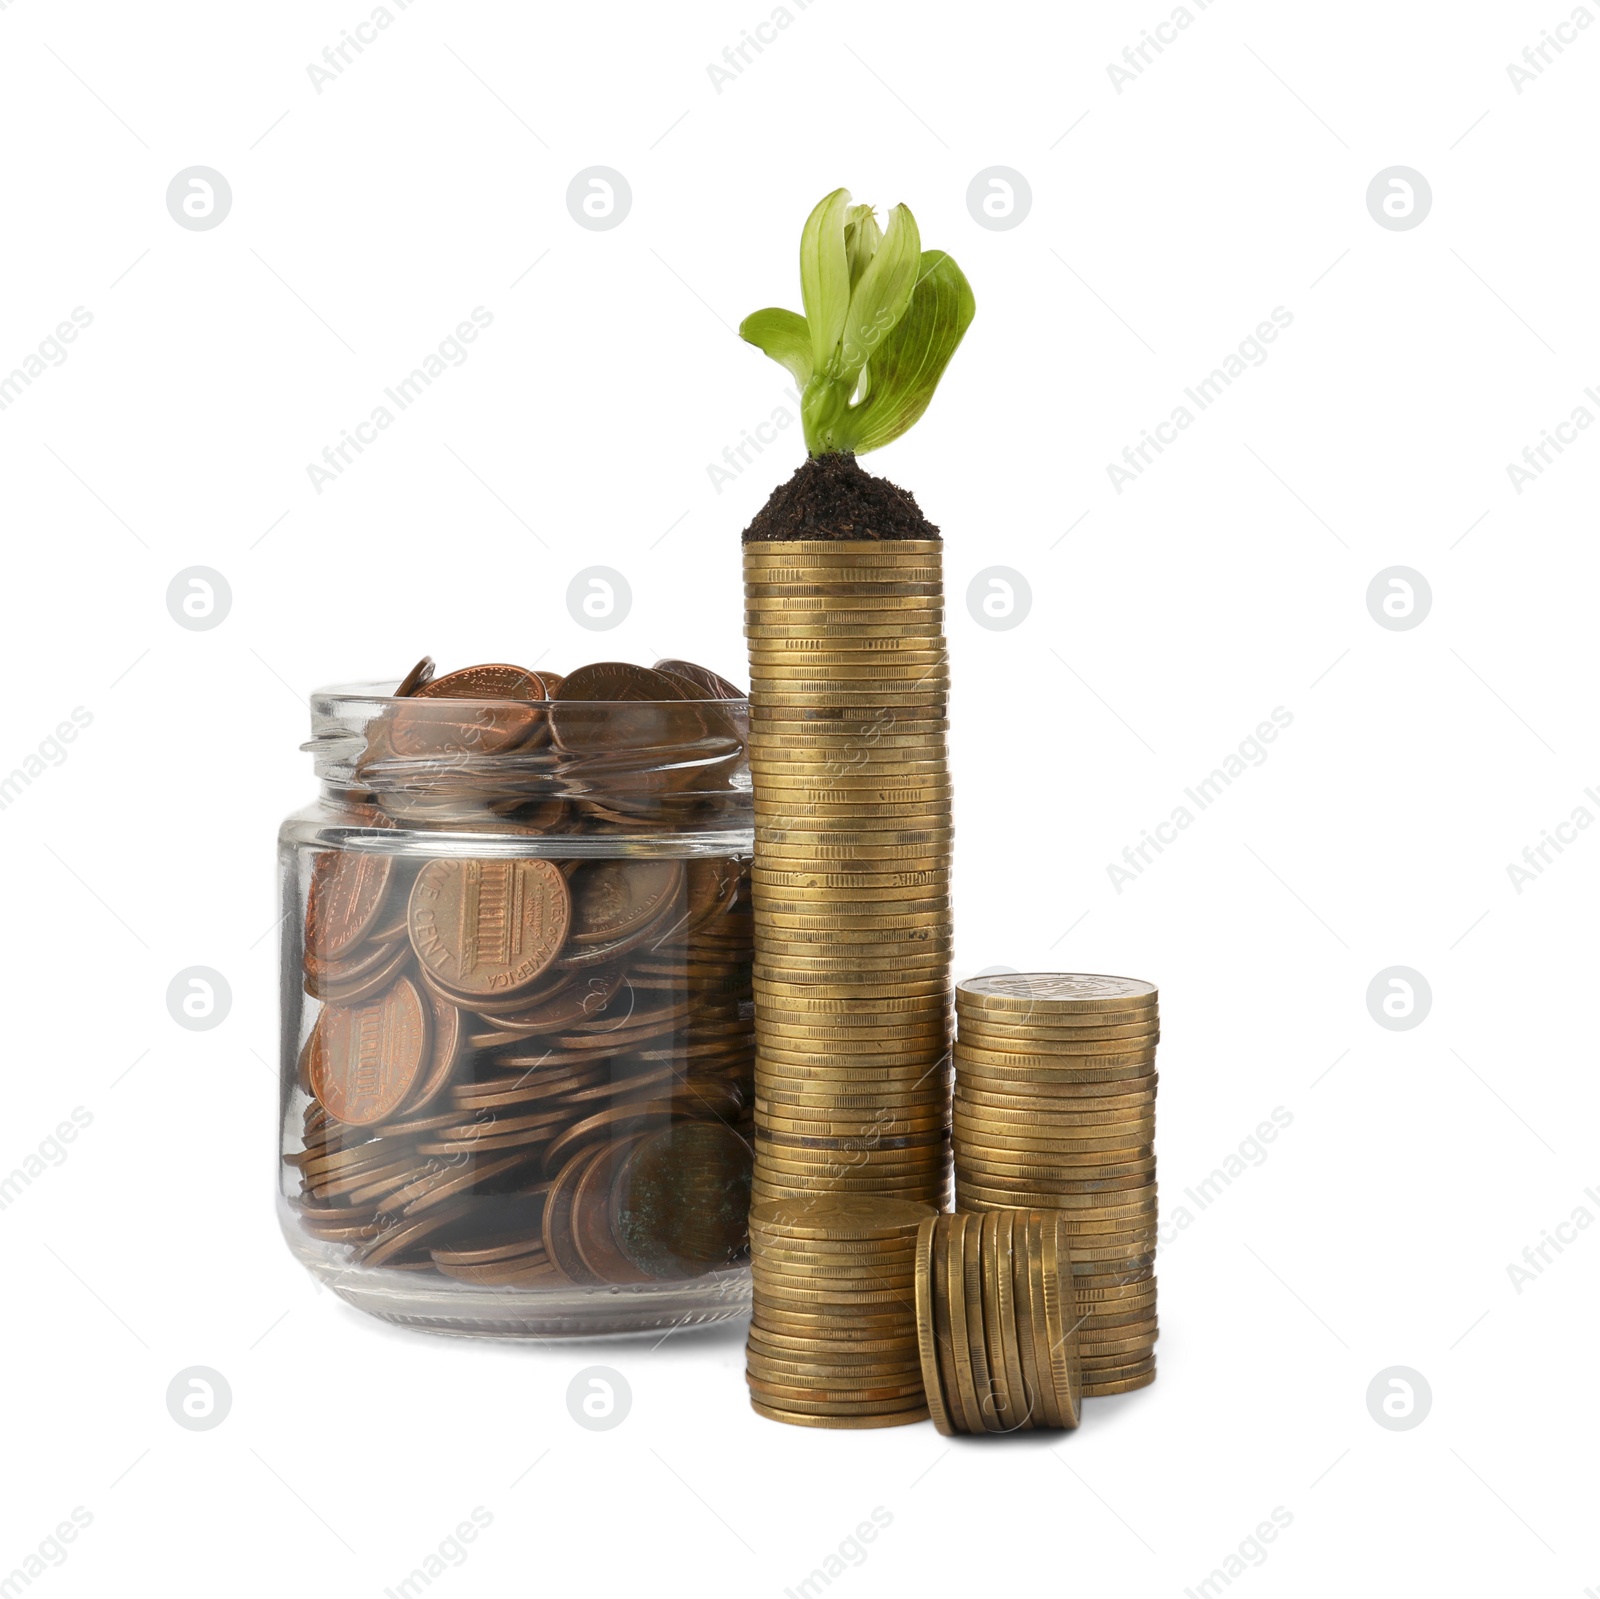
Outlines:
[[410, 978], [363, 1005], [325, 1005], [307, 1058], [312, 1092], [341, 1122], [384, 1120], [414, 1087], [429, 1032], [427, 1007]]

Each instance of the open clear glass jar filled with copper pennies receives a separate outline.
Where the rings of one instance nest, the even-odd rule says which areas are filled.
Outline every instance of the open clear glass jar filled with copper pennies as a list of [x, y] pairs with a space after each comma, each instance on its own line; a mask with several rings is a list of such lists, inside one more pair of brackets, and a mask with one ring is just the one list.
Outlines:
[[741, 1314], [747, 703], [397, 687], [312, 698], [280, 834], [290, 1248], [434, 1332]]

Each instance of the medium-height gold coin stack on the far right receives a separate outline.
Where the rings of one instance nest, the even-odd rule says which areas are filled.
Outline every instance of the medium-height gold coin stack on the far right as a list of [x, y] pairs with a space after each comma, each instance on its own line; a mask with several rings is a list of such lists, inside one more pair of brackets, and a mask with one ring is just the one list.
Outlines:
[[1155, 1381], [1155, 986], [1069, 972], [955, 991], [958, 1210], [1059, 1210], [1083, 1393]]

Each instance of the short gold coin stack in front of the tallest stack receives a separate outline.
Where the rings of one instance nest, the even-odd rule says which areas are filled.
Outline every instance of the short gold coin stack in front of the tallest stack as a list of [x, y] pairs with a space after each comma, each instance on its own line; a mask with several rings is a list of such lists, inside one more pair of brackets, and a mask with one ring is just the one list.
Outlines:
[[750, 1207], [750, 1404], [797, 1426], [925, 1421], [917, 1239], [907, 1199], [758, 1200]]

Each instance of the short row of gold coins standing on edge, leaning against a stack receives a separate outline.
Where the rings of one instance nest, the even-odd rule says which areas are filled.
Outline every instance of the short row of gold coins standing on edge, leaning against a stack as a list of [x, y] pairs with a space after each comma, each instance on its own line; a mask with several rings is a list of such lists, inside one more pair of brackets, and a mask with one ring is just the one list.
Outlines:
[[1082, 1369], [1061, 1212], [923, 1221], [917, 1341], [941, 1433], [1075, 1428]]

